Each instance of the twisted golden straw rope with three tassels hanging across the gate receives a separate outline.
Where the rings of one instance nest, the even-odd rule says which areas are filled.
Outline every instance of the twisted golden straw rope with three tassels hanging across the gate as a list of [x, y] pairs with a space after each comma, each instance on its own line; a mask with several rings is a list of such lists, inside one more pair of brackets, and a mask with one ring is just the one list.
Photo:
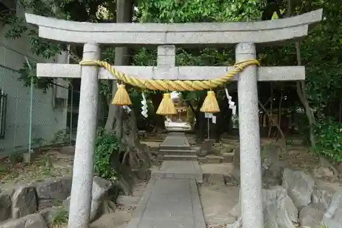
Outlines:
[[[99, 61], [99, 60], [83, 60], [79, 64], [83, 66], [103, 66], [107, 69], [116, 79], [119, 79], [125, 84], [130, 84], [131, 86], [136, 86], [142, 89], [148, 90], [162, 90], [162, 91], [195, 91], [195, 90], [210, 90], [207, 93], [207, 97], [203, 102], [202, 107], [200, 108], [201, 112], [209, 112], [215, 113], [220, 112], [220, 107], [218, 105], [218, 101], [215, 98], [215, 92], [211, 91], [213, 88], [224, 85], [229, 79], [244, 71], [246, 66], [250, 66], [252, 64], [256, 64], [260, 66], [260, 62], [258, 60], [247, 60], [244, 62], [237, 62], [234, 64], [234, 68], [232, 71], [226, 73], [226, 75], [222, 77], [217, 77], [211, 80], [154, 80], [154, 79], [142, 79], [139, 77], [131, 77], [126, 75], [120, 71], [117, 71], [116, 68], [111, 67], [108, 62]], [[131, 99], [129, 98], [129, 94], [124, 87], [124, 84], [118, 86], [118, 91], [116, 92], [114, 99], [112, 101], [115, 105], [131, 105]], [[157, 114], [161, 115], [173, 115], [177, 114], [176, 108], [174, 107], [174, 103], [170, 97], [170, 93], [167, 92], [164, 94], [163, 99], [158, 107]]]

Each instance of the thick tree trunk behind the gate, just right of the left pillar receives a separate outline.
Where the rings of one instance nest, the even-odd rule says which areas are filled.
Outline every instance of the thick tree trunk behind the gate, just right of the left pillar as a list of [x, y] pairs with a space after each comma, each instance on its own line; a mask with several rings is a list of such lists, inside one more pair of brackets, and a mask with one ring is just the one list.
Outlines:
[[[129, 23], [132, 21], [132, 17], [133, 0], [117, 0], [116, 22]], [[129, 56], [129, 49], [127, 47], [116, 47], [115, 65], [128, 66], [131, 59]], [[116, 81], [113, 81], [112, 96], [115, 95], [117, 89]], [[122, 163], [127, 164], [127, 161], [129, 160], [129, 164], [131, 166], [139, 167], [146, 163], [148, 163], [148, 165], [150, 164], [148, 151], [142, 149], [142, 145], [140, 144], [133, 110], [131, 112], [127, 112], [123, 107], [118, 107], [110, 103], [105, 129], [107, 132], [113, 132], [116, 134], [120, 140], [120, 151], [124, 151]]]

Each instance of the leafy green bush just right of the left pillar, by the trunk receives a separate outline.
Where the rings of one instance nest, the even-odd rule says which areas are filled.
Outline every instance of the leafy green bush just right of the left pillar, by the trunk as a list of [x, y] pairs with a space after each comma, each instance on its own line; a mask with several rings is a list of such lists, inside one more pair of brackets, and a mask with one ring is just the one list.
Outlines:
[[105, 133], [105, 129], [100, 128], [96, 134], [94, 151], [94, 170], [100, 177], [116, 180], [116, 170], [111, 164], [114, 153], [118, 153], [120, 144], [114, 134]]

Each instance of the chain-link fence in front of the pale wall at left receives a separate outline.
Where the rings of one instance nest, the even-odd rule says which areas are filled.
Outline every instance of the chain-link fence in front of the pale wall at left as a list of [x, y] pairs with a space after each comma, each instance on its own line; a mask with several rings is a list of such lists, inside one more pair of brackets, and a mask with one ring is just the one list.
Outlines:
[[[25, 58], [21, 56], [21, 60]], [[18, 66], [0, 60], [0, 157], [72, 142], [78, 117], [73, 95], [77, 91], [65, 80], [64, 85], [57, 81], [46, 91], [25, 87], [18, 80], [20, 75]]]

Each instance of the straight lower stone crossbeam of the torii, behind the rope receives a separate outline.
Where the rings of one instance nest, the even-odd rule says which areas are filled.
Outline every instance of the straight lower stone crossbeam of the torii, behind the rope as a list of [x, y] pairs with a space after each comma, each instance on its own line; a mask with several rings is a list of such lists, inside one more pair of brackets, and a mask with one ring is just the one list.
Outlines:
[[[233, 70], [233, 66], [115, 66], [116, 70], [142, 79], [170, 80], [209, 80]], [[38, 77], [70, 77], [79, 78], [79, 64], [37, 64]], [[105, 68], [100, 68], [99, 79], [116, 79]], [[232, 78], [237, 81], [238, 75]], [[304, 66], [260, 66], [258, 81], [295, 81], [305, 79]]]

